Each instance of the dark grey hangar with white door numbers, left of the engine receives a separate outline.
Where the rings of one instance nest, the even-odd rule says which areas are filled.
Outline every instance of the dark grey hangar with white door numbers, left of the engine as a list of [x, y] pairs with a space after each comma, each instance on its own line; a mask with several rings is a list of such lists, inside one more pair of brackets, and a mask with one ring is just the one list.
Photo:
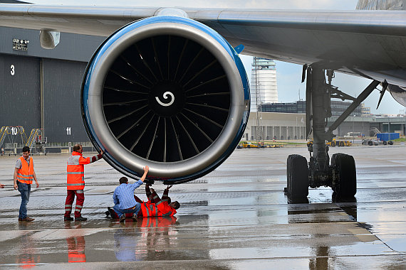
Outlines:
[[0, 126], [43, 129], [47, 146], [88, 142], [80, 117], [80, 86], [103, 37], [61, 33], [53, 50], [39, 31], [0, 28]]

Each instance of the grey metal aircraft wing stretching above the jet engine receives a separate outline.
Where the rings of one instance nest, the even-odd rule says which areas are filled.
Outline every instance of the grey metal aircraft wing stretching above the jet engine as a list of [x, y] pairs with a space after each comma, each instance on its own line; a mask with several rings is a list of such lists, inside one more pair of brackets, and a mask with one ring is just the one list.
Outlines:
[[[110, 36], [166, 8], [0, 4], [0, 26]], [[406, 11], [178, 8], [244, 54], [326, 68], [405, 86]]]

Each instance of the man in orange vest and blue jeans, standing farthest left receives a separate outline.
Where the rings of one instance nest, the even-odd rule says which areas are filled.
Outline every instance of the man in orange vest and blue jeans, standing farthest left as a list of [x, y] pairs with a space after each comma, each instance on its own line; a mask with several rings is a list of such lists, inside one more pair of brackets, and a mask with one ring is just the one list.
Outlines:
[[27, 216], [27, 203], [30, 200], [31, 184], [35, 180], [36, 187], [39, 187], [36, 174], [33, 169], [33, 158], [30, 157], [30, 148], [23, 147], [23, 156], [16, 162], [14, 168], [14, 189], [21, 193], [21, 205], [19, 211], [19, 221], [33, 221]]

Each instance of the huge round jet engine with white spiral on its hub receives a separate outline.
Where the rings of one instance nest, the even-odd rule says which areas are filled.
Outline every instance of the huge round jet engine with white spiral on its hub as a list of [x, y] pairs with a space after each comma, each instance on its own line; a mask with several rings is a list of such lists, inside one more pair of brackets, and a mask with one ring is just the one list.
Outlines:
[[130, 23], [100, 45], [82, 84], [85, 129], [105, 160], [136, 178], [182, 183], [219, 166], [249, 117], [236, 51], [189, 18]]

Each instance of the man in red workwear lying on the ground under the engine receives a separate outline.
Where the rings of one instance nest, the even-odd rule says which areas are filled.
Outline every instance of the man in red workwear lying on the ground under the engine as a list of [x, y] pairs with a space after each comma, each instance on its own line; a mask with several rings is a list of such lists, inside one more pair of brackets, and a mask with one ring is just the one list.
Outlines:
[[[168, 185], [164, 190], [162, 199], [160, 198], [150, 185], [145, 185], [145, 194], [147, 195], [148, 201], [143, 202], [140, 198], [134, 195], [137, 202], [141, 204], [141, 210], [138, 212], [138, 217], [165, 217], [173, 216], [176, 214], [176, 210], [180, 207], [179, 202], [170, 202], [168, 193], [172, 185]], [[108, 211], [105, 212], [106, 215], [111, 215], [113, 218], [118, 218], [114, 210], [108, 207]]]

